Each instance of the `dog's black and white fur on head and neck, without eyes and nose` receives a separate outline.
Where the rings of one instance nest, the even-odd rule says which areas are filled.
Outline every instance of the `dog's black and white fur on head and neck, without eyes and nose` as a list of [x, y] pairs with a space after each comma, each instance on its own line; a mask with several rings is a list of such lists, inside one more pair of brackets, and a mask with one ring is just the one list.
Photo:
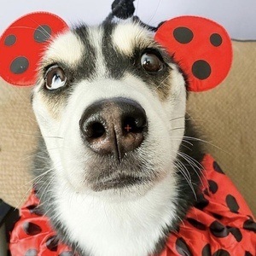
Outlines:
[[[141, 67], [148, 49], [160, 55], [161, 72]], [[56, 64], [67, 73], [67, 83], [47, 90], [44, 73]], [[138, 102], [148, 119], [141, 146], [119, 162], [86, 147], [79, 131], [86, 108], [115, 97]], [[195, 203], [200, 183], [203, 153], [197, 141], [190, 141], [193, 146], [186, 142], [196, 137], [186, 119], [186, 98], [183, 73], [154, 41], [154, 32], [138, 22], [80, 25], [49, 45], [32, 92], [42, 134], [33, 173], [41, 207], [73, 251], [147, 256], [163, 249]], [[101, 189], [102, 183], [129, 172], [145, 179]]]

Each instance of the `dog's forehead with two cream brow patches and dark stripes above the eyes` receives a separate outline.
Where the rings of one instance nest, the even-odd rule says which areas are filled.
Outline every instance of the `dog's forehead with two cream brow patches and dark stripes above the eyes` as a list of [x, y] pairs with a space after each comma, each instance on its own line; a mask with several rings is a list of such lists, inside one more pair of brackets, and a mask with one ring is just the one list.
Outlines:
[[104, 44], [111, 44], [120, 53], [132, 55], [135, 48], [154, 47], [154, 32], [133, 21], [119, 21], [102, 23], [99, 26], [80, 25], [76, 28], [58, 35], [49, 44], [43, 56], [46, 66], [50, 62], [65, 62], [73, 66], [85, 54], [90, 54], [90, 49]]

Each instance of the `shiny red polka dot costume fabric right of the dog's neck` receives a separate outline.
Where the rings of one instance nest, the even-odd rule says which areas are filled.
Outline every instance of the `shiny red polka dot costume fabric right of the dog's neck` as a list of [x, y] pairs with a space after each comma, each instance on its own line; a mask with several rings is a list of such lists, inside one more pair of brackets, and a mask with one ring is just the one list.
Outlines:
[[195, 207], [160, 256], [256, 255], [253, 213], [212, 156], [205, 155], [202, 166], [205, 178]]

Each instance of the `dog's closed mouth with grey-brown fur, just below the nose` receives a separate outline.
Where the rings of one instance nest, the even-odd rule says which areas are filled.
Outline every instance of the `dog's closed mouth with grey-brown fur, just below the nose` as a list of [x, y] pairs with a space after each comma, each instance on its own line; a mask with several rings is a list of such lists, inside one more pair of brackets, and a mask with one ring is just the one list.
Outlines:
[[108, 189], [131, 189], [149, 184], [157, 179], [158, 175], [150, 161], [139, 160], [135, 152], [125, 155], [121, 161], [111, 156], [95, 157], [86, 162], [85, 183], [93, 191]]

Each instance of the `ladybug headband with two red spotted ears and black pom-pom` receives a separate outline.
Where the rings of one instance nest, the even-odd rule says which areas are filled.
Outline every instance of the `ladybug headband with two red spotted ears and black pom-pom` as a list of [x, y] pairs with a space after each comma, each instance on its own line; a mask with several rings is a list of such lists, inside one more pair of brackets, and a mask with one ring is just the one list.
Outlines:
[[[115, 0], [107, 20], [132, 17], [135, 11], [133, 1]], [[162, 22], [157, 28], [148, 28], [155, 31], [155, 40], [186, 74], [188, 90], [212, 89], [229, 73], [232, 62], [230, 37], [216, 22], [180, 16]], [[0, 38], [0, 76], [9, 84], [36, 84], [38, 63], [50, 39], [68, 29], [60, 17], [45, 12], [28, 14], [16, 20]]]

